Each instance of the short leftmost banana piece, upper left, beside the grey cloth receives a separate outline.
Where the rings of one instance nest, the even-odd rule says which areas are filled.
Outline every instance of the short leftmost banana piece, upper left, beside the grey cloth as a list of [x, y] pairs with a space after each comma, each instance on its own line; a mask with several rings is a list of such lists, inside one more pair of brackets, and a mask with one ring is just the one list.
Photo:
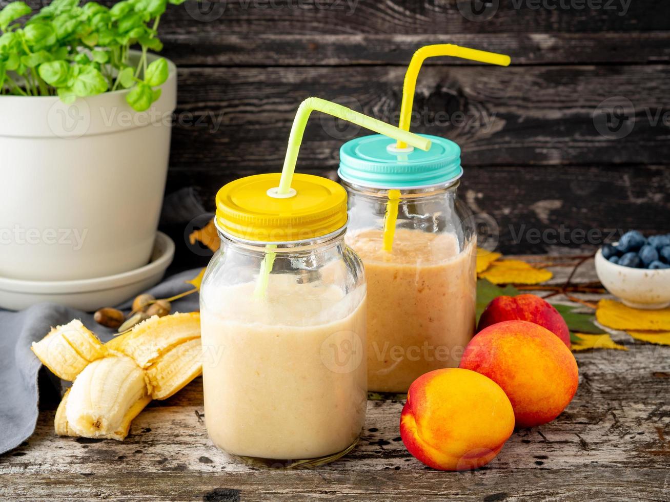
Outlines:
[[78, 319], [52, 328], [42, 340], [33, 342], [31, 349], [58, 378], [68, 382], [105, 354], [100, 340]]

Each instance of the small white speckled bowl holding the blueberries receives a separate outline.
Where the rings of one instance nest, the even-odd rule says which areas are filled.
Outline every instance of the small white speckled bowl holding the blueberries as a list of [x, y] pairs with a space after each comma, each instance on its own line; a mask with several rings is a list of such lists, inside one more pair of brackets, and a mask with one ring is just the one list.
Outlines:
[[600, 249], [596, 253], [596, 272], [602, 285], [628, 307], [664, 309], [670, 306], [670, 268], [647, 270], [617, 265], [606, 260]]

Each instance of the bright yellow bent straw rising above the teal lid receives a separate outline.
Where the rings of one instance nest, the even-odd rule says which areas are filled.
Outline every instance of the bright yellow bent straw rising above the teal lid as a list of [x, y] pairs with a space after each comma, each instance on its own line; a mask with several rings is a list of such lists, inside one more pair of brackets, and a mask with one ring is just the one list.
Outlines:
[[[496, 54], [495, 52], [480, 51], [467, 47], [455, 46], [454, 44], [435, 44], [434, 46], [423, 46], [412, 56], [409, 62], [407, 72], [405, 73], [405, 83], [403, 84], [403, 100], [400, 105], [400, 123], [398, 127], [403, 131], [409, 131], [409, 125], [412, 116], [412, 105], [414, 102], [414, 91], [417, 85], [417, 77], [421, 65], [427, 58], [435, 56], [453, 56], [464, 60], [478, 61], [480, 63], [496, 64], [498, 66], [509, 66], [511, 58], [505, 54]], [[397, 148], [407, 148], [407, 142], [398, 141]]]

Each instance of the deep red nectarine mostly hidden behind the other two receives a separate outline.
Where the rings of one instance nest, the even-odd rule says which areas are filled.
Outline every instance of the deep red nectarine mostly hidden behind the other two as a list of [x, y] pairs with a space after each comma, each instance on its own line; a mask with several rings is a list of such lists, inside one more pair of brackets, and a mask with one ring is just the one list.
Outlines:
[[497, 297], [486, 306], [477, 331], [502, 321], [529, 321], [547, 328], [570, 348], [570, 330], [558, 311], [537, 295]]

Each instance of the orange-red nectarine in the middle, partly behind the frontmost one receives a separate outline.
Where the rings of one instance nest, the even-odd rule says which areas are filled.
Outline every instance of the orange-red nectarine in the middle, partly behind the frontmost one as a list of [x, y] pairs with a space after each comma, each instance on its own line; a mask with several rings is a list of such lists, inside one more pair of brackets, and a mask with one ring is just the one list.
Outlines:
[[559, 416], [577, 391], [577, 361], [551, 331], [528, 321], [482, 329], [468, 343], [460, 366], [496, 382], [514, 408], [517, 427]]

